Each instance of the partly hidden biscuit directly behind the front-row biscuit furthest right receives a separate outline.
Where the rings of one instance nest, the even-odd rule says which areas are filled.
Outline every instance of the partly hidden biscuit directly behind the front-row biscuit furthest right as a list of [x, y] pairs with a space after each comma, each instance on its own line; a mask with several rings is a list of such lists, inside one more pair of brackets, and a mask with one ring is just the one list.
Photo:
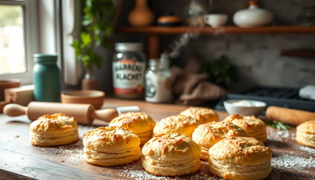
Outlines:
[[201, 146], [200, 159], [208, 160], [209, 148], [228, 137], [248, 137], [246, 132], [230, 122], [211, 122], [199, 125], [192, 133], [192, 140]]

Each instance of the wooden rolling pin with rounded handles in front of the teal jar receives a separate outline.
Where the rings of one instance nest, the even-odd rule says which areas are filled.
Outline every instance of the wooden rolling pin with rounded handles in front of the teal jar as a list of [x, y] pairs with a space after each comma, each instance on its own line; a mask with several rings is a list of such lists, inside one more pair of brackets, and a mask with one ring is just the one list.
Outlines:
[[[139, 107], [139, 110], [135, 107], [131, 106], [129, 109], [131, 111], [140, 110]], [[65, 113], [68, 116], [75, 117], [78, 124], [91, 125], [94, 119], [110, 122], [113, 118], [118, 116], [117, 110], [114, 108], [95, 110], [94, 106], [91, 104], [30, 102], [27, 107], [18, 104], [8, 104], [3, 108], [3, 113], [8, 116], [26, 114], [31, 121], [37, 120], [38, 117], [44, 114]], [[120, 110], [118, 111], [120, 112]]]

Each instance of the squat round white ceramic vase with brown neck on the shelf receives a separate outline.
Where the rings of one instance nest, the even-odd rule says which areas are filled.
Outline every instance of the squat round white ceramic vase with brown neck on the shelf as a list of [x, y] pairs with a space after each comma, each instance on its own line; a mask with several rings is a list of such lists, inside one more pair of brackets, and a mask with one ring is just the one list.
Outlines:
[[266, 9], [260, 9], [256, 1], [250, 1], [248, 9], [239, 10], [233, 16], [234, 24], [239, 27], [263, 26], [272, 21], [272, 13]]

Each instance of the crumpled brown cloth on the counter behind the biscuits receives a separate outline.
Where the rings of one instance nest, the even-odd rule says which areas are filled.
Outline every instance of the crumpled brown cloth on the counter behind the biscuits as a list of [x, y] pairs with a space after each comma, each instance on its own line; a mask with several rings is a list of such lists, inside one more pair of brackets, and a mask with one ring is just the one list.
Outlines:
[[226, 96], [225, 89], [208, 81], [209, 74], [198, 73], [200, 65], [197, 58], [190, 58], [184, 69], [171, 67], [175, 103], [196, 106]]

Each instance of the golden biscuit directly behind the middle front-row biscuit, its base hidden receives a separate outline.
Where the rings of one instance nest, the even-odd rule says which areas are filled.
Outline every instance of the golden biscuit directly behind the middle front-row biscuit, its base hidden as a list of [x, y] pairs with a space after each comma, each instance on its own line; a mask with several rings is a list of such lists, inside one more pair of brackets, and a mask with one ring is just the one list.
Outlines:
[[161, 119], [153, 128], [153, 134], [168, 134], [178, 132], [191, 137], [192, 132], [198, 127], [197, 119], [184, 115], [174, 115]]

